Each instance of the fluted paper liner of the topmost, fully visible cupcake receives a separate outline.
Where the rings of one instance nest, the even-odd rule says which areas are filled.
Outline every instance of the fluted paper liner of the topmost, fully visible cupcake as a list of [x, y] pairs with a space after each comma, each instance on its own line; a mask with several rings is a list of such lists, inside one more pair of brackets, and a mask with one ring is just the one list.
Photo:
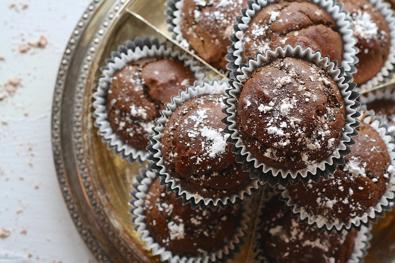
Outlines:
[[[312, 169], [307, 167], [299, 170], [284, 170], [270, 167], [254, 157], [248, 148], [243, 145], [243, 141], [237, 131], [235, 108], [237, 97], [242, 87], [241, 82], [246, 79], [255, 68], [267, 64], [275, 58], [283, 57], [303, 58], [322, 67], [332, 75], [337, 82], [345, 102], [346, 125], [339, 145], [336, 147], [333, 154], [327, 156], [327, 158], [321, 162], [318, 162]], [[235, 79], [229, 81], [231, 88], [226, 90], [228, 99], [224, 101], [227, 105], [227, 108], [224, 109], [224, 113], [226, 113], [227, 117], [224, 118], [222, 122], [227, 126], [224, 131], [230, 134], [228, 142], [233, 143], [232, 151], [238, 154], [236, 160], [237, 162], [243, 163], [244, 171], [250, 171], [250, 178], [258, 178], [261, 184], [268, 182], [272, 187], [276, 184], [286, 186], [288, 182], [296, 184], [299, 180], [307, 184], [309, 180], [318, 182], [320, 177], [324, 177], [327, 180], [329, 174], [332, 174], [336, 170], [337, 165], [344, 164], [344, 156], [350, 153], [350, 145], [355, 143], [352, 136], [357, 135], [355, 127], [359, 125], [359, 122], [355, 121], [355, 118], [359, 116], [356, 109], [359, 107], [360, 103], [355, 101], [359, 96], [359, 94], [354, 91], [355, 83], [350, 82], [351, 77], [345, 75], [343, 67], [337, 68], [335, 62], [329, 62], [328, 56], [322, 58], [321, 53], [319, 51], [312, 51], [310, 46], [306, 49], [302, 49], [301, 45], [296, 45], [295, 48], [286, 45], [284, 49], [279, 46], [276, 47], [274, 51], [268, 49], [265, 55], [257, 52], [256, 58], [248, 57], [247, 64], [241, 65], [241, 68], [234, 71], [233, 74]]]

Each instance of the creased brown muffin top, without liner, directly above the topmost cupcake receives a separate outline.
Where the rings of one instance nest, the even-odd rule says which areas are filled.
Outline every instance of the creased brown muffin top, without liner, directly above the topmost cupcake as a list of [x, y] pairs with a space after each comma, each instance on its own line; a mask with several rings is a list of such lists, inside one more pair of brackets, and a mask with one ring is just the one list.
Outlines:
[[277, 1], [262, 8], [252, 18], [243, 36], [243, 59], [256, 52], [274, 50], [278, 45], [308, 45], [321, 49], [322, 56], [340, 64], [343, 57], [342, 36], [324, 8], [306, 0]]

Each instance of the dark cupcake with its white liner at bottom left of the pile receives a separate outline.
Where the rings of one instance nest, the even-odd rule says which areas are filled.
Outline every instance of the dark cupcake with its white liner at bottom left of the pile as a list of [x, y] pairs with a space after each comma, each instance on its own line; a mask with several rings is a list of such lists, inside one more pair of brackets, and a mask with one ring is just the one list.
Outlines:
[[169, 262], [226, 262], [240, 250], [248, 204], [203, 211], [183, 204], [150, 170], [141, 170], [130, 205], [135, 231], [153, 255]]

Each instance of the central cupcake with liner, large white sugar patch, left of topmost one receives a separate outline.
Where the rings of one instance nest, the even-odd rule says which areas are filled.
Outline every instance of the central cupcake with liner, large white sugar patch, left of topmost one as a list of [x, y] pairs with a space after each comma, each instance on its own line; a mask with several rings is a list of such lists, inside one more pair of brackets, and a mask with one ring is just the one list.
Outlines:
[[229, 134], [224, 132], [221, 110], [227, 87], [225, 79], [203, 81], [174, 97], [168, 110], [161, 111], [150, 137], [151, 168], [167, 189], [175, 190], [176, 197], [182, 195], [193, 207], [224, 207], [258, 188], [226, 142]]

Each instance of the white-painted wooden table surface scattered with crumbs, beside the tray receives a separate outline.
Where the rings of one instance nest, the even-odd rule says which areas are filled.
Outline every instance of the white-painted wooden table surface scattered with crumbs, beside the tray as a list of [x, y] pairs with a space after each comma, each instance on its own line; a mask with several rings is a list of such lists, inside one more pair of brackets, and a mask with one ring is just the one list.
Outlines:
[[[60, 59], [90, 0], [0, 0], [0, 262], [94, 262], [66, 210], [53, 165], [51, 105]], [[15, 4], [15, 8], [9, 8]], [[43, 34], [45, 48], [18, 46]]]

